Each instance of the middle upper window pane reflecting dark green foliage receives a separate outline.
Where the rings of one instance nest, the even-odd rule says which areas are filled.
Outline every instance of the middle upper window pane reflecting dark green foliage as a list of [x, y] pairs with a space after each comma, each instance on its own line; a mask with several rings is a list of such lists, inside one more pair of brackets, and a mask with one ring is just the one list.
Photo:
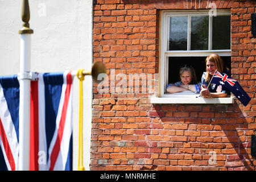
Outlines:
[[209, 16], [191, 17], [191, 50], [208, 50]]

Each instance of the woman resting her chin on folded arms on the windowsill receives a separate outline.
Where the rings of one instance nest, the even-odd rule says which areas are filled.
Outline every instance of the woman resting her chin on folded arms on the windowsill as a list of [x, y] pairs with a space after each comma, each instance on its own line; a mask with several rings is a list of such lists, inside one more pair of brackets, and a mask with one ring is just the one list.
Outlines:
[[183, 92], [185, 90], [191, 90], [195, 93], [200, 92], [200, 84], [196, 82], [195, 70], [187, 65], [180, 68], [180, 81], [175, 84], [169, 84], [166, 88], [168, 93]]

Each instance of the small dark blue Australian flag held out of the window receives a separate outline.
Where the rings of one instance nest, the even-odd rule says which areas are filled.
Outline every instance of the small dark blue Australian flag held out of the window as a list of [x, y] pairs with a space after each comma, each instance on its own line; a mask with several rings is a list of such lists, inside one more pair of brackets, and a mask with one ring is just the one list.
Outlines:
[[251, 100], [245, 90], [243, 90], [242, 86], [225, 73], [216, 71], [213, 75], [212, 83], [222, 85], [226, 89], [229, 89], [230, 92], [232, 92], [244, 106], [246, 106]]

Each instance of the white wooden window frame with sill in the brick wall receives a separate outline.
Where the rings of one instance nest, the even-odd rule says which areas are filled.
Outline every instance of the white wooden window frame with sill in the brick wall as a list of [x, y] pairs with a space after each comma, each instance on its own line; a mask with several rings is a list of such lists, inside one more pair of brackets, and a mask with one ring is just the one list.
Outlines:
[[[231, 15], [230, 10], [216, 10], [216, 15]], [[202, 98], [198, 97], [189, 90], [180, 93], [165, 93], [168, 84], [168, 57], [184, 57], [184, 56], [205, 56], [210, 53], [217, 53], [220, 56], [231, 56], [231, 38], [230, 49], [212, 50], [212, 16], [209, 16], [209, 43], [208, 50], [190, 49], [190, 26], [191, 16], [210, 15], [209, 10], [163, 10], [160, 13], [160, 63], [159, 63], [159, 90], [158, 97], [152, 97], [152, 104], [233, 104], [233, 97], [226, 98]], [[168, 51], [169, 30], [168, 28], [171, 16], [188, 16], [188, 46], [187, 51]], [[231, 31], [231, 26], [230, 26]], [[203, 73], [202, 73], [203, 74]]]

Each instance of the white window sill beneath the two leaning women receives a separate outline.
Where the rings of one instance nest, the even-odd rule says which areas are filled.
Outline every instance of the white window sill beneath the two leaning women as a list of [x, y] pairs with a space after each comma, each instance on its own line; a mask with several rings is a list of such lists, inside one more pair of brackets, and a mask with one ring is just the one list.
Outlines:
[[[170, 96], [172, 94], [164, 94], [164, 97], [151, 97], [150, 103], [151, 104], [233, 104], [234, 98], [233, 97], [222, 97], [222, 98], [203, 98], [197, 97], [194, 95], [187, 95], [186, 97], [184, 94]], [[168, 97], [169, 96], [169, 97]]]

